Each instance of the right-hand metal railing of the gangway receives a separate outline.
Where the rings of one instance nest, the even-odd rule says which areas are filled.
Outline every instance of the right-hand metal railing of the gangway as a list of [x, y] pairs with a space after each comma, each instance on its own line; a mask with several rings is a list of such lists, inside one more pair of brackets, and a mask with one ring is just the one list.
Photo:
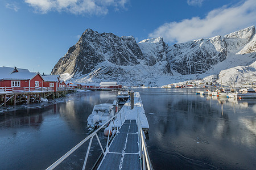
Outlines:
[[141, 120], [139, 118], [139, 112], [137, 113], [137, 120], [138, 120], [138, 135], [139, 135], [139, 157], [141, 158], [141, 169], [143, 170], [153, 170], [154, 168], [152, 167], [150, 157], [148, 155], [147, 151], [147, 145], [145, 142], [145, 134], [144, 131], [142, 130], [141, 126]]

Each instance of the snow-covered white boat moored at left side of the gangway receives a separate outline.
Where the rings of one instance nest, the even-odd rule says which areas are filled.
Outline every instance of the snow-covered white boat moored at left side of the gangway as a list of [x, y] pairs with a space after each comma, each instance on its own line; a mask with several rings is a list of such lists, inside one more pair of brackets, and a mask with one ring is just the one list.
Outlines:
[[92, 114], [90, 114], [87, 118], [87, 127], [89, 131], [93, 131], [98, 127], [102, 126], [110, 120], [115, 114], [118, 112], [118, 104], [115, 100], [113, 104], [104, 103], [94, 105]]

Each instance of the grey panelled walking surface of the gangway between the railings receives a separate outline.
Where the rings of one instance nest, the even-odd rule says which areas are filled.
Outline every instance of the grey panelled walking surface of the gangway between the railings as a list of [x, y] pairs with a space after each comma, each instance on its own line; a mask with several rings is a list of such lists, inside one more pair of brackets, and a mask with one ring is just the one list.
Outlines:
[[98, 169], [141, 169], [136, 120], [125, 120], [118, 131]]

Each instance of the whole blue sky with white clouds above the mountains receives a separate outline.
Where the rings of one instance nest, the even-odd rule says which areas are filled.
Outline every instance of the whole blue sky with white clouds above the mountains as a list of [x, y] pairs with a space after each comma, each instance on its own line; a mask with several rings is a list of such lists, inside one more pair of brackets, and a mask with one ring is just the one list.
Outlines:
[[1, 0], [0, 66], [51, 73], [86, 28], [169, 45], [255, 25], [255, 0]]

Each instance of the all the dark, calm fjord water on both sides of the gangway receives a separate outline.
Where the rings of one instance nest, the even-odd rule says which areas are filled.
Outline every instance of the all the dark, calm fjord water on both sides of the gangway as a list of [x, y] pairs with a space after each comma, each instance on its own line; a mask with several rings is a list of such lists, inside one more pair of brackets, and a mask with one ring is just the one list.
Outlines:
[[[154, 169], [255, 169], [256, 101], [196, 96], [193, 89], [138, 88]], [[0, 169], [46, 169], [84, 139], [95, 104], [116, 91], [81, 92], [62, 102], [0, 113]], [[100, 140], [106, 138], [100, 135]], [[81, 169], [87, 144], [57, 169]], [[88, 169], [100, 154], [95, 142]]]

